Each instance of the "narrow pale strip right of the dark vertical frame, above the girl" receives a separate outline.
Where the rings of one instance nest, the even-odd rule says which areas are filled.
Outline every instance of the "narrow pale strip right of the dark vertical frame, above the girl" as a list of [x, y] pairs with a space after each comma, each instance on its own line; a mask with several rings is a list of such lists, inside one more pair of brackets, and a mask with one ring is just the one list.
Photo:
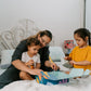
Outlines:
[[91, 0], [86, 0], [86, 27], [91, 31]]

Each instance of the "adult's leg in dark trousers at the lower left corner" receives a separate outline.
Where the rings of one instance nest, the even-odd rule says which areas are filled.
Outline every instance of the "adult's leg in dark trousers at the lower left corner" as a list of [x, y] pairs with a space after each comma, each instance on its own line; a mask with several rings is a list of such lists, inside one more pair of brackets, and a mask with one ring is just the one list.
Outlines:
[[9, 84], [10, 82], [18, 80], [18, 73], [20, 70], [11, 65], [2, 75], [0, 75], [0, 89]]

